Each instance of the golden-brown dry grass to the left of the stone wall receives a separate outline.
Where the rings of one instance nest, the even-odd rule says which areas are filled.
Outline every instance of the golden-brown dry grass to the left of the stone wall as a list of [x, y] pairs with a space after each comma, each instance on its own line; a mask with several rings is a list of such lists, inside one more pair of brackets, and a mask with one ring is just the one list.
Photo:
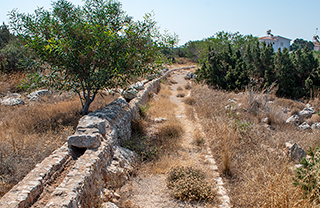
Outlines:
[[[114, 98], [98, 96], [91, 111]], [[77, 97], [50, 96], [22, 106], [0, 106], [0, 196], [62, 146], [80, 118]]]

